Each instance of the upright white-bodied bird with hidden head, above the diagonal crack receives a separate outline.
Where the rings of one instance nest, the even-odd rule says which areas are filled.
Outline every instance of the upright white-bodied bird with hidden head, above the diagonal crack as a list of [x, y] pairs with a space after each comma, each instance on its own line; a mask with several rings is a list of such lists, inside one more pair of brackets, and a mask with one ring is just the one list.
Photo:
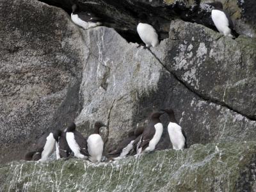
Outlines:
[[140, 22], [137, 31], [147, 48], [156, 47], [159, 44], [156, 30], [150, 24]]

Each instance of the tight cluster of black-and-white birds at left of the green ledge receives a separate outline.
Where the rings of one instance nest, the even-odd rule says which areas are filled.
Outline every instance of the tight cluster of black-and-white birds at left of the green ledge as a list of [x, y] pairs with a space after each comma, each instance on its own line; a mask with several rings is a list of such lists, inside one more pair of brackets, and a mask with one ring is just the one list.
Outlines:
[[28, 152], [25, 159], [28, 161], [46, 161], [56, 148], [56, 159], [63, 157], [74, 157], [80, 159], [89, 159], [92, 162], [99, 162], [102, 157], [104, 142], [99, 134], [100, 127], [108, 127], [102, 122], [95, 122], [94, 132], [88, 138], [84, 138], [81, 132], [76, 130], [74, 122], [67, 129], [44, 134], [38, 143], [36, 149]]

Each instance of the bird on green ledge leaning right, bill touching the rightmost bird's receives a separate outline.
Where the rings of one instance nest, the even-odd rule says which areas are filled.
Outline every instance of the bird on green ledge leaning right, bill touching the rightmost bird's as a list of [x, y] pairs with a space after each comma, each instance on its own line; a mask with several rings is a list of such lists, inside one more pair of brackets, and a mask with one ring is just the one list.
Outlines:
[[143, 131], [142, 140], [137, 154], [141, 154], [143, 150], [145, 152], [150, 152], [156, 148], [156, 145], [160, 141], [163, 134], [163, 124], [159, 119], [163, 113], [164, 112], [162, 111], [157, 111], [150, 115], [150, 122]]

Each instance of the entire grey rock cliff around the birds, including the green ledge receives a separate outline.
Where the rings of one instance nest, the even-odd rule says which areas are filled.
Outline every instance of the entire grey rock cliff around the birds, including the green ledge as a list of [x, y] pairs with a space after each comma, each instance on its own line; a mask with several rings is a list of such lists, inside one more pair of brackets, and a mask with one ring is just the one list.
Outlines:
[[[0, 2], [0, 163], [22, 159], [44, 132], [64, 129], [72, 121], [84, 136], [92, 133], [96, 120], [108, 124], [108, 131], [101, 132], [107, 152], [143, 124], [153, 109], [169, 106], [192, 147], [99, 165], [78, 159], [15, 161], [0, 166], [0, 189], [255, 188], [256, 39], [255, 13], [248, 11], [251, 1], [225, 4], [244, 31], [235, 40], [196, 24], [197, 17], [184, 18], [193, 1], [81, 1], [84, 7], [100, 11], [107, 18], [104, 24], [112, 27], [86, 31], [70, 20], [71, 1], [45, 2], [55, 6], [35, 0]], [[150, 50], [136, 43], [136, 19], [142, 9], [152, 14], [153, 25], [158, 22], [162, 39]], [[166, 127], [168, 117], [161, 121]], [[212, 144], [194, 145], [207, 143]], [[157, 149], [170, 147], [164, 129]], [[67, 174], [62, 177], [63, 172]], [[134, 177], [125, 175], [129, 172]], [[150, 177], [154, 172], [157, 180]], [[97, 178], [100, 182], [94, 188]], [[64, 182], [67, 186], [61, 185]]]

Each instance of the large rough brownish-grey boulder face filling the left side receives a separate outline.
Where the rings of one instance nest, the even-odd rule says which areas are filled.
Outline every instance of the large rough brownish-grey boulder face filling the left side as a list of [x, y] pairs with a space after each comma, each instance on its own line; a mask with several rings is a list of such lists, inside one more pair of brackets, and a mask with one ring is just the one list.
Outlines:
[[60, 8], [0, 1], [0, 162], [74, 120], [84, 59], [79, 30]]

